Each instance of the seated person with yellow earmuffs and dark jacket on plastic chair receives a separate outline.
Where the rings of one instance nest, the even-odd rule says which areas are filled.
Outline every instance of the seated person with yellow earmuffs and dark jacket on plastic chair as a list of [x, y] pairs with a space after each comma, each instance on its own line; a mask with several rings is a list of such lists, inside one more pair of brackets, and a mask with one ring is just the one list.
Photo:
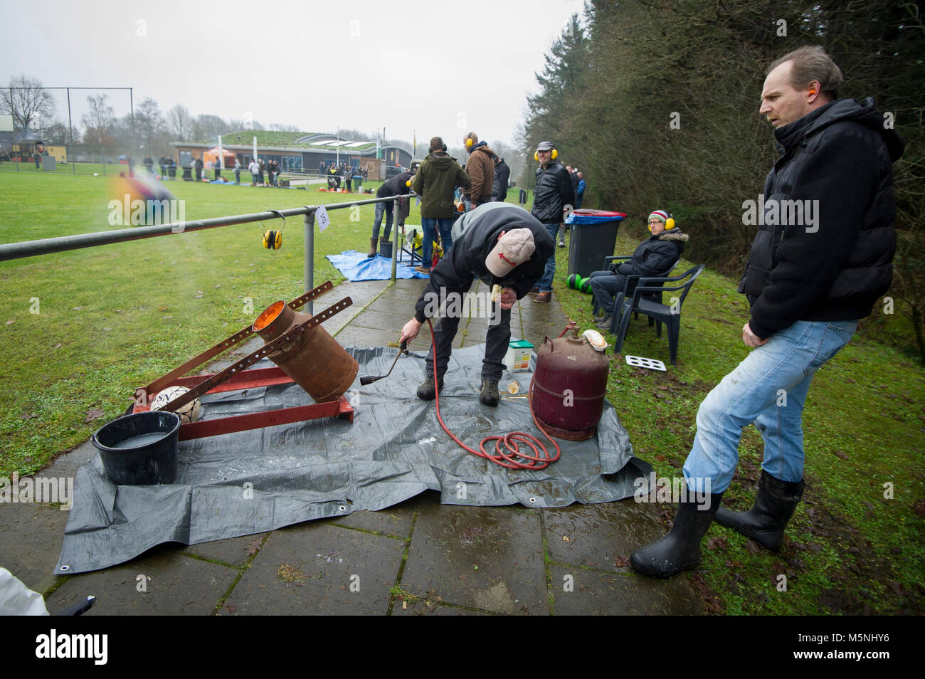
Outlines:
[[591, 292], [603, 315], [595, 318], [601, 329], [610, 329], [616, 308], [615, 295], [623, 292], [630, 297], [635, 290], [638, 276], [667, 276], [685, 251], [689, 238], [680, 228], [674, 226], [674, 218], [668, 210], [656, 210], [648, 216], [648, 230], [652, 235], [642, 241], [633, 256], [625, 262], [614, 262], [610, 269], [592, 271]]

